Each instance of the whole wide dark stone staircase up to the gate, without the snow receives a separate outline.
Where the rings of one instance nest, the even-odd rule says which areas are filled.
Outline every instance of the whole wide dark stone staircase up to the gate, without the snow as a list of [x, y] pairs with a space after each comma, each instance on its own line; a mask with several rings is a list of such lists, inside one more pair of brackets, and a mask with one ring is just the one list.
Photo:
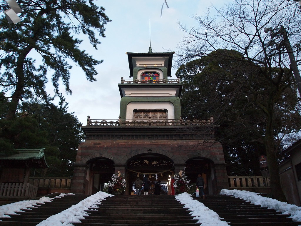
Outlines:
[[[37, 208], [23, 209], [19, 215], [0, 218], [0, 226], [34, 226], [51, 215], [61, 212], [85, 199], [86, 195], [67, 195], [45, 202]], [[291, 226], [301, 225], [294, 222], [290, 215], [281, 214], [273, 209], [262, 208], [243, 199], [226, 195], [207, 195], [206, 199], [196, 198], [205, 206], [227, 221], [231, 226]], [[98, 208], [89, 209], [89, 216], [75, 226], [198, 226], [190, 211], [184, 209], [175, 196], [117, 195], [102, 200]], [[54, 225], [55, 226], [55, 225]]]

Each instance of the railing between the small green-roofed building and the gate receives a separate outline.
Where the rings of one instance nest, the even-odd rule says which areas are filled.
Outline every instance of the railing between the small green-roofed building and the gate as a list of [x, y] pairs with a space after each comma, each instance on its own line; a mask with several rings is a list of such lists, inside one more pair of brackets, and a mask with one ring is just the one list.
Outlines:
[[70, 177], [29, 177], [29, 183], [39, 188], [70, 188]]

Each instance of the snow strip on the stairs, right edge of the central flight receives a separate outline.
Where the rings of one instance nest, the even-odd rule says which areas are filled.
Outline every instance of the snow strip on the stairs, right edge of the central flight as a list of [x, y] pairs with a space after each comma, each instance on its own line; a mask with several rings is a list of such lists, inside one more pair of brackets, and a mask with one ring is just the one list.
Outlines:
[[194, 200], [191, 198], [188, 193], [182, 193], [176, 195], [175, 198], [181, 203], [185, 204], [184, 208], [188, 208], [191, 212], [191, 216], [194, 216], [193, 219], [197, 219], [197, 223], [206, 225], [206, 226], [215, 226], [215, 225], [229, 225], [225, 221], [221, 221], [219, 215], [208, 207], [204, 206], [202, 202]]

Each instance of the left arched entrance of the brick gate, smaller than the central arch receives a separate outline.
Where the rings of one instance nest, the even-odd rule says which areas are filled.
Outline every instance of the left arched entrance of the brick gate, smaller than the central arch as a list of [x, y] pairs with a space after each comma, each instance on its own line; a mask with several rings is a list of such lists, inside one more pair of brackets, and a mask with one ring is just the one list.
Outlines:
[[114, 162], [107, 158], [94, 158], [87, 162], [89, 167], [89, 194], [95, 194], [98, 191], [103, 191], [104, 183], [114, 174]]

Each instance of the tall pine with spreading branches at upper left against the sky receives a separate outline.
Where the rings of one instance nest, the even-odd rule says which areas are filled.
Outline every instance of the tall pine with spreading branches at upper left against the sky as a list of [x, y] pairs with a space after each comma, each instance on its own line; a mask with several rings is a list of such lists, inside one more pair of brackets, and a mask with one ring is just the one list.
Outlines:
[[[53, 73], [51, 81], [57, 94], [60, 80], [71, 94], [72, 66], [67, 59], [81, 67], [89, 81], [95, 81], [95, 66], [102, 61], [80, 49], [82, 40], [78, 36], [87, 36], [97, 49], [98, 35], [105, 37], [104, 25], [110, 22], [104, 8], [98, 7], [94, 0], [19, 0], [18, 4], [23, 11], [19, 16], [21, 22], [9, 24], [2, 17], [0, 30], [0, 86], [3, 92], [12, 93], [7, 97], [9, 120], [22, 99], [51, 100], [45, 91], [48, 73]], [[2, 1], [0, 11], [8, 8]], [[34, 59], [29, 53], [37, 57]]]

